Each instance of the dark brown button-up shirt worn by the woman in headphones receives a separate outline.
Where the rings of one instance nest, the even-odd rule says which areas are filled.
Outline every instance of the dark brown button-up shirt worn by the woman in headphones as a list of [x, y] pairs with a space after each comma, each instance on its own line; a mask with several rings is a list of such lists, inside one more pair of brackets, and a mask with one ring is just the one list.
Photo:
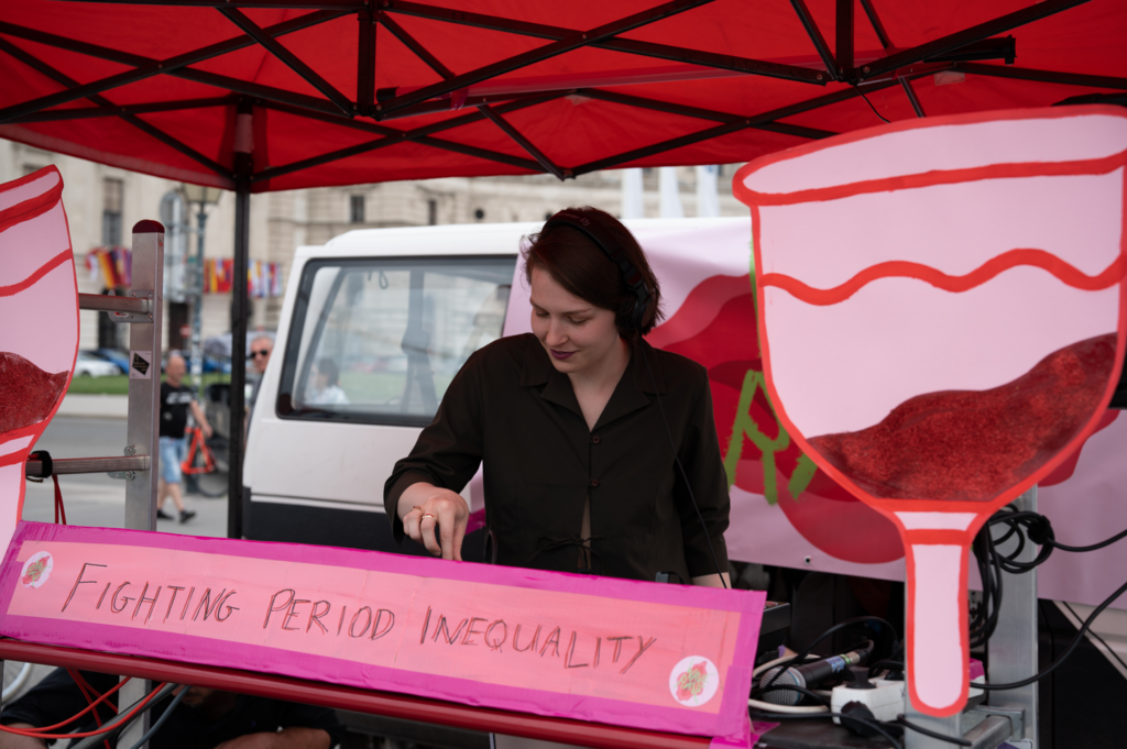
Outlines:
[[[674, 462], [657, 394], [708, 536]], [[477, 351], [388, 479], [384, 503], [396, 538], [403, 537], [396, 511], [403, 490], [425, 481], [460, 491], [482, 461], [486, 523], [500, 564], [575, 572], [589, 497], [595, 573], [653, 580], [657, 572], [676, 572], [689, 582], [717, 571], [708, 537], [720, 569], [728, 569], [728, 483], [708, 375], [691, 359], [635, 342], [588, 430], [571, 381], [534, 336], [503, 338]]]

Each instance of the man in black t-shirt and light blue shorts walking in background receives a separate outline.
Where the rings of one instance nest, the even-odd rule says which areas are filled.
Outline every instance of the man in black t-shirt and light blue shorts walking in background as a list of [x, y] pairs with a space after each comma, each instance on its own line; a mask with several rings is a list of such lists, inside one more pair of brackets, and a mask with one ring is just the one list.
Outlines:
[[188, 452], [184, 430], [189, 411], [204, 430], [204, 436], [211, 437], [211, 425], [196, 402], [194, 391], [183, 384], [185, 372], [187, 366], [184, 357], [179, 354], [170, 355], [165, 365], [165, 382], [160, 384], [160, 482], [157, 490], [157, 517], [161, 520], [172, 519], [163, 510], [165, 498], [171, 497], [180, 512], [180, 523], [186, 523], [196, 515], [184, 508], [184, 497], [180, 494], [180, 464]]

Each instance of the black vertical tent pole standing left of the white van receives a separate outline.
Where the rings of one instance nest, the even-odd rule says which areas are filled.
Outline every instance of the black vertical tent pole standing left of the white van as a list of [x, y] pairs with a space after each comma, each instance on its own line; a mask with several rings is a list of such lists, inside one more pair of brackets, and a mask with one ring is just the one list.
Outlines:
[[234, 283], [231, 286], [231, 418], [228, 440], [227, 536], [242, 537], [242, 455], [247, 384], [247, 267], [250, 250], [252, 107], [239, 101], [234, 125]]

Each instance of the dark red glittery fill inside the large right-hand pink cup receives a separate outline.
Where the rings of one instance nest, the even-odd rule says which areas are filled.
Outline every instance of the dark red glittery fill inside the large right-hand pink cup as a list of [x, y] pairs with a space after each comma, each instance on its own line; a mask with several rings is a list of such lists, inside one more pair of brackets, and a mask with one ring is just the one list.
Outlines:
[[1077, 341], [992, 390], [915, 396], [875, 427], [810, 445], [873, 497], [988, 501], [1047, 463], [1091, 417], [1115, 368], [1116, 339]]

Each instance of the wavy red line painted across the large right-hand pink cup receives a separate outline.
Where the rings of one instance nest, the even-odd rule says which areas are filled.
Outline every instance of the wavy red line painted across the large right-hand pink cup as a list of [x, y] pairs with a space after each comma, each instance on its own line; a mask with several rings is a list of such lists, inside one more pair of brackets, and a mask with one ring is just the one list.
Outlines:
[[761, 286], [777, 286], [791, 296], [817, 306], [837, 304], [857, 294], [861, 288], [880, 278], [917, 278], [937, 288], [956, 294], [980, 286], [995, 276], [1017, 268], [1031, 266], [1056, 276], [1062, 283], [1088, 292], [1095, 292], [1118, 284], [1127, 275], [1127, 256], [1119, 255], [1115, 261], [1097, 276], [1084, 275], [1061, 258], [1045, 250], [1017, 249], [991, 258], [965, 276], [950, 276], [931, 266], [907, 260], [878, 262], [857, 274], [844, 284], [833, 288], [815, 288], [781, 273], [760, 276]]

